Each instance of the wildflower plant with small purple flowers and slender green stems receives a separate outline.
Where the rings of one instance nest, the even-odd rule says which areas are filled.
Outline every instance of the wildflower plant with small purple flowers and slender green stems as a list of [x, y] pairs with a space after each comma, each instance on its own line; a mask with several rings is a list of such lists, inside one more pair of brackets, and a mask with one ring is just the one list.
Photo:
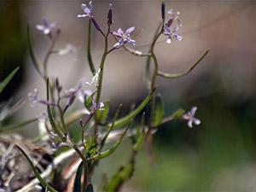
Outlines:
[[[17, 189], [17, 191], [40, 191], [42, 188], [44, 188], [45, 191], [51, 192], [61, 191], [63, 189], [76, 192], [94, 191], [96, 185], [92, 182], [91, 178], [94, 176], [95, 169], [100, 161], [113, 154], [125, 138], [130, 138], [130, 159], [114, 173], [113, 177], [109, 177], [108, 179], [104, 177], [102, 181], [103, 184], [99, 185], [100, 188], [98, 189], [102, 191], [119, 191], [121, 186], [131, 178], [136, 164], [137, 153], [143, 146], [143, 143], [151, 144], [150, 141], [152, 141], [154, 133], [159, 129], [160, 125], [172, 121], [173, 119], [187, 120], [189, 127], [192, 127], [193, 123], [195, 125], [201, 123], [199, 119], [195, 118], [196, 107], [192, 108], [191, 111], [187, 113], [185, 113], [183, 109], [178, 109], [175, 113], [165, 115], [164, 103], [156, 86], [158, 78], [177, 79], [187, 75], [208, 53], [207, 50], [195, 64], [183, 73], [172, 74], [160, 71], [160, 63], [154, 52], [155, 44], [161, 36], [167, 37], [166, 42], [168, 44], [172, 43], [174, 39], [177, 41], [183, 39], [178, 35], [178, 30], [182, 26], [179, 20], [179, 12], [174, 13], [171, 9], [167, 11], [166, 15], [166, 5], [165, 3], [161, 4], [160, 26], [156, 26], [154, 38], [149, 44], [148, 52], [143, 53], [136, 49], [137, 42], [136, 39], [132, 37], [132, 32], [136, 31], [134, 26], [127, 27], [125, 31], [121, 28], [118, 28], [116, 31], [113, 30], [112, 4], [109, 5], [108, 15], [106, 16], [106, 25], [108, 26], [106, 32], [103, 32], [102, 27], [99, 26], [96, 21], [95, 15], [93, 15], [94, 8], [91, 1], [88, 5], [82, 3], [81, 8], [83, 13], [77, 15], [77, 17], [84, 19], [84, 21], [88, 20], [87, 61], [93, 78], [90, 82], [82, 80], [76, 87], [69, 90], [65, 91], [63, 89], [58, 77], [49, 78], [48, 65], [51, 55], [64, 55], [72, 52], [74, 50], [73, 45], [67, 45], [66, 48], [56, 51], [55, 43], [61, 34], [61, 29], [56, 28], [55, 23], [50, 23], [44, 18], [43, 25], [37, 25], [36, 28], [49, 37], [50, 46], [45, 54], [44, 60], [39, 61], [32, 49], [31, 27], [27, 27], [28, 47], [32, 63], [38, 74], [44, 80], [46, 90], [46, 98], [38, 96], [39, 93], [37, 89], [29, 93], [28, 97], [33, 105], [44, 105], [45, 110], [44, 113], [34, 119], [21, 122], [18, 125], [9, 125], [8, 128], [2, 127], [0, 131], [11, 131], [17, 127], [23, 127], [39, 120], [40, 129], [44, 129], [44, 134], [40, 135], [39, 139], [34, 140], [34, 145], [37, 145], [38, 148], [42, 148], [42, 150], [44, 149], [44, 161], [45, 154], [49, 155], [51, 158], [48, 159], [49, 161], [47, 161], [45, 167], [43, 167], [42, 161], [35, 160], [33, 158], [35, 152], [27, 148], [26, 145], [21, 145], [20, 143], [15, 144], [15, 147], [9, 147], [15, 150], [15, 154], [12, 154], [12, 158], [19, 155], [19, 153], [17, 153], [18, 151], [23, 154], [32, 167], [32, 172], [34, 172], [36, 177], [24, 184], [24, 186], [20, 186], [20, 189]], [[102, 59], [98, 68], [91, 56], [90, 33], [92, 25], [104, 39]], [[116, 40], [116, 44], [109, 44], [110, 38]], [[102, 86], [106, 58], [113, 51], [121, 48], [131, 53], [131, 55], [145, 58], [148, 96], [146, 96], [143, 102], [136, 108], [133, 108], [131, 113], [120, 118], [119, 113], [122, 104], [119, 104], [119, 108], [117, 108], [113, 117], [108, 115], [111, 102], [102, 101]], [[1, 85], [2, 84], [0, 84], [0, 86]], [[88, 86], [92, 86], [95, 91], [86, 90]], [[81, 107], [79, 110], [73, 111], [70, 107], [73, 106], [73, 103], [76, 101], [81, 103]], [[144, 108], [146, 106], [150, 108], [149, 119], [145, 119]], [[141, 117], [139, 123], [133, 121], [137, 116]], [[71, 134], [70, 125], [73, 122], [77, 122], [81, 129], [79, 141], [75, 141]], [[113, 143], [113, 145], [105, 149], [106, 143]], [[46, 150], [46, 148], [48, 150]], [[3, 162], [6, 162], [2, 165], [4, 168], [6, 164], [9, 163], [9, 159], [6, 161], [3, 160]], [[66, 173], [65, 177], [63, 174], [58, 174], [60, 170], [62, 173]], [[53, 177], [53, 175], [55, 176]], [[57, 177], [57, 175], [59, 176]], [[0, 178], [4, 183], [4, 181], [9, 179], [9, 176], [0, 176]], [[67, 183], [61, 183], [62, 180], [67, 181]], [[58, 181], [58, 183], [55, 181]], [[70, 184], [73, 186], [72, 189], [68, 189]], [[4, 190], [6, 186], [0, 185], [0, 189]]]

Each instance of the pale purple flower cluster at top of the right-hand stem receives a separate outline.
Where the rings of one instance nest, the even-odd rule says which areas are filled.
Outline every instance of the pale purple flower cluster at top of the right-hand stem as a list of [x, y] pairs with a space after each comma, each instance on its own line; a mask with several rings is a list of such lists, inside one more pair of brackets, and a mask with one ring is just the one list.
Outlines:
[[[167, 36], [166, 43], [171, 44], [173, 38], [176, 38], [177, 41], [181, 41], [183, 38], [177, 34], [177, 31], [179, 30], [179, 27], [182, 26], [180, 24], [180, 20], [178, 18], [178, 15], [180, 13], [177, 12], [177, 14], [175, 14], [172, 11], [172, 9], [169, 10], [167, 13], [171, 16], [170, 16], [170, 19], [167, 21], [167, 23], [165, 24], [165, 26], [163, 28], [163, 34]], [[177, 24], [175, 24], [175, 26], [172, 27], [172, 23], [174, 21], [177, 21]]]

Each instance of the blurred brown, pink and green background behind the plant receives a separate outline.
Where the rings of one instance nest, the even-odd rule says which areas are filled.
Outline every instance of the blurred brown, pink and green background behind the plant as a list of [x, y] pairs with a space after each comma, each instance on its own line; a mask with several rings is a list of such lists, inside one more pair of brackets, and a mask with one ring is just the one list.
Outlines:
[[[74, 53], [50, 58], [50, 76], [58, 76], [65, 89], [75, 86], [79, 79], [91, 79], [85, 55], [87, 20], [77, 18], [82, 14], [81, 3], [0, 2], [0, 79], [21, 67], [0, 96], [2, 102], [10, 96], [26, 98], [35, 87], [40, 96], [45, 96], [44, 82], [32, 67], [26, 41], [29, 23], [33, 46], [43, 60], [49, 39], [35, 25], [42, 23], [44, 16], [61, 28], [56, 49], [66, 44], [76, 47]], [[113, 30], [135, 26], [140, 32], [137, 49], [147, 51], [160, 21], [160, 1], [96, 0], [96, 20], [103, 29], [109, 3], [113, 3]], [[183, 40], [166, 44], [165, 37], [160, 39], [156, 55], [161, 71], [183, 72], [207, 49], [210, 53], [182, 79], [158, 78], [158, 91], [164, 98], [166, 115], [177, 108], [189, 110], [197, 106], [196, 117], [202, 123], [193, 129], [178, 120], [162, 125], [154, 137], [154, 163], [142, 152], [134, 177], [124, 191], [256, 191], [256, 2], [166, 1], [166, 9], [181, 12]], [[99, 63], [102, 37], [93, 32], [92, 38], [92, 55]], [[124, 49], [114, 51], [107, 59], [103, 98], [110, 98], [113, 108], [119, 102], [130, 108], [130, 103], [141, 101], [147, 95], [144, 67], [145, 58], [130, 55]], [[42, 110], [38, 106], [31, 108], [26, 102], [11, 121], [29, 119]], [[37, 125], [28, 126], [24, 132], [28, 137], [36, 136]], [[102, 172], [111, 176], [128, 156], [127, 141], [113, 157], [103, 161], [93, 178], [95, 182], [101, 179]]]

